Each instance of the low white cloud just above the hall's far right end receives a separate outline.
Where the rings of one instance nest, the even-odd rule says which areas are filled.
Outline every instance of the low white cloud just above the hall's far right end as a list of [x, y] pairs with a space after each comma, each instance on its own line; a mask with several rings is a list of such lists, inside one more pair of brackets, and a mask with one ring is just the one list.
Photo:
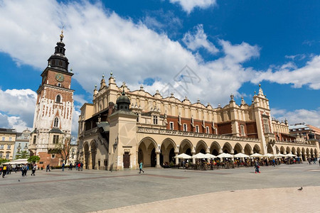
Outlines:
[[306, 123], [312, 126], [320, 127], [320, 108], [315, 110], [296, 109], [287, 111], [285, 109], [272, 109], [272, 116], [276, 116], [280, 121], [287, 119], [289, 124]]

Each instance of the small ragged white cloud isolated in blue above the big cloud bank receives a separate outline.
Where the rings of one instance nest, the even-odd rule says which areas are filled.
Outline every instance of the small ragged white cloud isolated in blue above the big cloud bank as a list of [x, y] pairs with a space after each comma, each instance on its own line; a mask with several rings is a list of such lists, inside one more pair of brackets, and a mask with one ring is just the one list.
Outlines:
[[210, 43], [206, 33], [204, 33], [203, 25], [199, 24], [195, 29], [195, 33], [188, 32], [183, 36], [183, 43], [185, 43], [186, 46], [193, 51], [198, 50], [199, 48], [205, 48], [209, 53], [218, 53], [219, 50], [215, 48], [215, 45], [213, 45], [213, 43]]

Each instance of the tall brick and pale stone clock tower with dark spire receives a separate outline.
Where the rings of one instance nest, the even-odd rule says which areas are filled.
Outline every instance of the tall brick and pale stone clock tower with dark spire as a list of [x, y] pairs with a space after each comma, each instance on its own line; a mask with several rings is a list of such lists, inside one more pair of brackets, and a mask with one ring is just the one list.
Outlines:
[[61, 31], [55, 53], [50, 56], [48, 66], [41, 74], [42, 82], [37, 90], [33, 132], [29, 143], [31, 155], [41, 158], [41, 167], [61, 163], [61, 155], [56, 152], [57, 143], [64, 143], [65, 138], [71, 136], [74, 90], [70, 88], [73, 73], [68, 72], [68, 65]]

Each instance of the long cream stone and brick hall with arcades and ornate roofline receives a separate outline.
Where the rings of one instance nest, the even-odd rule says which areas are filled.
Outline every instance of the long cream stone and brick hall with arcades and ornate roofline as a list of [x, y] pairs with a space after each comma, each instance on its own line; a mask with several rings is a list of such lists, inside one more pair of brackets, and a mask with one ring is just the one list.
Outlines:
[[303, 160], [319, 153], [318, 143], [289, 135], [287, 120], [272, 119], [260, 86], [251, 104], [238, 105], [231, 95], [225, 107], [213, 108], [118, 87], [111, 74], [96, 86], [93, 104], [80, 110], [78, 160], [88, 169], [134, 170], [141, 161], [161, 167], [178, 163], [181, 153], [292, 153]]

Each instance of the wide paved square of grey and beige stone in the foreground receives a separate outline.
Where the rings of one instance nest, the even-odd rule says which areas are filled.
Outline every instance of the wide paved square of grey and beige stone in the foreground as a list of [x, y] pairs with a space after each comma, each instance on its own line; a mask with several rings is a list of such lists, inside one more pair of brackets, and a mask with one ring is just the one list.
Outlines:
[[145, 168], [142, 174], [37, 170], [30, 175], [0, 179], [0, 212], [320, 212], [320, 167], [306, 163], [262, 167], [260, 174], [254, 168]]

